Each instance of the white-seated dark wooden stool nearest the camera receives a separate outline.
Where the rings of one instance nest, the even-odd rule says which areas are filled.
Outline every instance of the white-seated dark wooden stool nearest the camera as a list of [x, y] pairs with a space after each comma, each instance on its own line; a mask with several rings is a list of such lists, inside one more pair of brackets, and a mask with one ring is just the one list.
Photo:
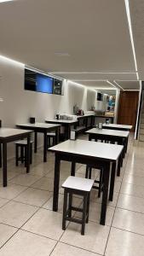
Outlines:
[[[74, 223], [82, 224], [81, 235], [84, 235], [85, 223], [89, 221], [89, 196], [94, 180], [84, 177], [67, 177], [62, 184], [64, 188], [64, 204], [63, 204], [63, 218], [62, 230], [66, 230], [66, 220]], [[82, 195], [84, 197], [83, 208], [72, 207], [72, 195]], [[69, 195], [68, 208], [67, 196]], [[82, 219], [72, 218], [72, 211], [82, 212]]]

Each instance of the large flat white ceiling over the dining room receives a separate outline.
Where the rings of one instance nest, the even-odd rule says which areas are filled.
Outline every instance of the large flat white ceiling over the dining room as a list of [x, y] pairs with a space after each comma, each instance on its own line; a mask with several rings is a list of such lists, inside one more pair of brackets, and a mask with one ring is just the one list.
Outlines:
[[[144, 66], [142, 2], [130, 0], [140, 74]], [[0, 34], [0, 55], [64, 79], [95, 88], [107, 87], [106, 80], [125, 80], [125, 83], [137, 80], [124, 0], [15, 0], [0, 3]], [[143, 44], [141, 42], [139, 49], [141, 38]], [[64, 55], [59, 55], [61, 53]], [[134, 84], [127, 84], [130, 84], [128, 89], [137, 89], [137, 84], [136, 88]], [[124, 88], [128, 86], [124, 82], [122, 85]]]

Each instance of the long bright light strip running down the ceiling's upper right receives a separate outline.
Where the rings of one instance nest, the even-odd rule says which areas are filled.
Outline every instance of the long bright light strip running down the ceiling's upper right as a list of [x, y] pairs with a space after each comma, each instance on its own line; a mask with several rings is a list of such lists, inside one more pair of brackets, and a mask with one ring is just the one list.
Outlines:
[[129, 0], [125, 0], [125, 8], [126, 8], [126, 14], [127, 14], [129, 30], [130, 30], [131, 46], [132, 46], [132, 51], [133, 51], [133, 55], [134, 55], [135, 71], [136, 71], [137, 79], [139, 80], [139, 74], [137, 73], [137, 61], [136, 61], [136, 55], [135, 55], [135, 44], [134, 44], [134, 38], [133, 38], [133, 32], [132, 32], [132, 26], [131, 26], [131, 19], [130, 19], [130, 4], [129, 4]]

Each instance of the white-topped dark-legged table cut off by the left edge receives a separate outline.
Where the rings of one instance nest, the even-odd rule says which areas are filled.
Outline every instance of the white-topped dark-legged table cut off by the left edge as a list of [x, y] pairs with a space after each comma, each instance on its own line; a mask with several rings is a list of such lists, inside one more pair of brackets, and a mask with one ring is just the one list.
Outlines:
[[27, 139], [26, 150], [26, 172], [30, 172], [30, 141], [32, 131], [20, 130], [15, 128], [0, 128], [0, 167], [3, 167], [3, 187], [7, 186], [7, 144]]

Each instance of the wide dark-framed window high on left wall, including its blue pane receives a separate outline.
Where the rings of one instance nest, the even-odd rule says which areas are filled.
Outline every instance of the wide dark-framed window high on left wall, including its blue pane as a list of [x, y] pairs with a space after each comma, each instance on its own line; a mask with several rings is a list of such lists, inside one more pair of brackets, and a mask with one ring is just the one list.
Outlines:
[[61, 95], [62, 80], [25, 69], [25, 90]]

